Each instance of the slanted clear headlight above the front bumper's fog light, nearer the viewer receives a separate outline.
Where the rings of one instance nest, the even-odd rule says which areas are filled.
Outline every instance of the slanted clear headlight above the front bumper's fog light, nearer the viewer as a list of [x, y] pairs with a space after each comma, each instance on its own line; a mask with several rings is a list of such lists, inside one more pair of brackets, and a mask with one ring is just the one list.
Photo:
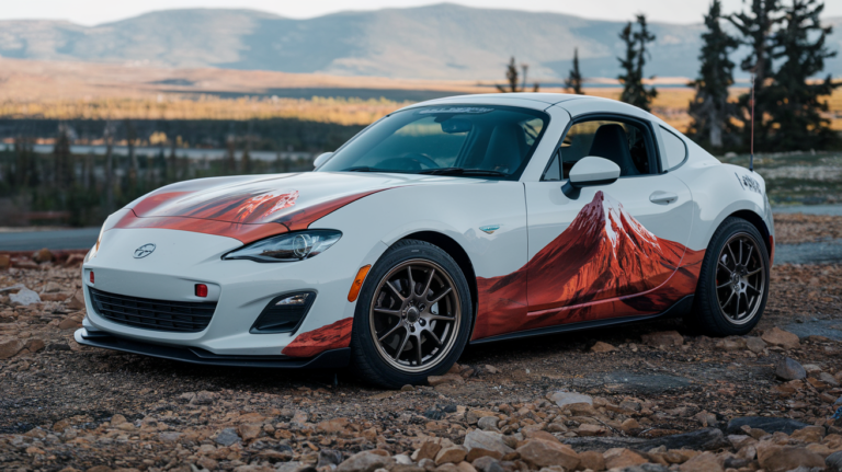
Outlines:
[[224, 255], [226, 261], [248, 258], [257, 262], [295, 262], [327, 251], [342, 238], [335, 230], [298, 231], [264, 239]]

